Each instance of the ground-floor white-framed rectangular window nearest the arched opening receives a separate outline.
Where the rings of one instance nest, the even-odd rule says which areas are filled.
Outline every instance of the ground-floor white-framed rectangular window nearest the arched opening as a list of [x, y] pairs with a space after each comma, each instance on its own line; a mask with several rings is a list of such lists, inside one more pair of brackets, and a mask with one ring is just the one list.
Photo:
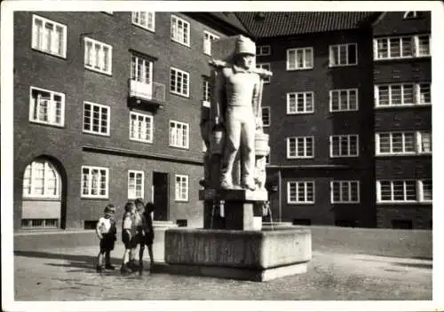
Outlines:
[[82, 166], [82, 197], [107, 199], [108, 168]]

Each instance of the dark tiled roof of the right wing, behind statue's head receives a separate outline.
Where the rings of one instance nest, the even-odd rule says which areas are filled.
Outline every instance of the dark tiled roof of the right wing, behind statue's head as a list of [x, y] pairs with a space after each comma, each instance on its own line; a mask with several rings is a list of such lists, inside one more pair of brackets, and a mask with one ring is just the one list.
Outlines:
[[371, 25], [380, 12], [235, 12], [256, 38], [304, 35]]

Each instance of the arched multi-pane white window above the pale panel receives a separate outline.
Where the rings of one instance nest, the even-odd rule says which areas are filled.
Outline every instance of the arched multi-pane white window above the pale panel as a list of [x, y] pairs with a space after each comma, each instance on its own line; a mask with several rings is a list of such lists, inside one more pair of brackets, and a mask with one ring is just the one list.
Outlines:
[[23, 198], [59, 199], [60, 176], [47, 160], [35, 160], [23, 175]]

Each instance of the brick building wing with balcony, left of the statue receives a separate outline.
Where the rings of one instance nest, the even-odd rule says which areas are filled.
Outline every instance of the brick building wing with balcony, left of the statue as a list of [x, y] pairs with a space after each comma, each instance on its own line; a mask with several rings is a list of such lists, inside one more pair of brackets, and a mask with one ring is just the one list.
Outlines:
[[233, 13], [15, 12], [14, 230], [91, 228], [108, 202], [202, 226], [200, 111]]

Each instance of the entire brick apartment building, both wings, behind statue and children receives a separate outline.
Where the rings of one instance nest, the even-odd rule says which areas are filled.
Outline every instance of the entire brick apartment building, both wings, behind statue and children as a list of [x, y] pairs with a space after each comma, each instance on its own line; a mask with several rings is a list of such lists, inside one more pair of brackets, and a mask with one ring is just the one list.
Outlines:
[[202, 226], [210, 41], [240, 33], [274, 73], [274, 219], [429, 228], [430, 29], [430, 12], [15, 12], [14, 230], [90, 228], [136, 197]]

